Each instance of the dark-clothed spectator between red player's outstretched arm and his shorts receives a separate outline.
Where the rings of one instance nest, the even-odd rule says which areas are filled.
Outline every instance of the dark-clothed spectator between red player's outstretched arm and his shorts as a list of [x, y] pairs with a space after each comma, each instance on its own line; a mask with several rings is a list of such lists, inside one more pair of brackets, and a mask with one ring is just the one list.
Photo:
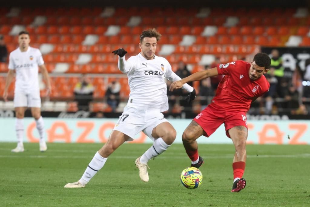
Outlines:
[[199, 95], [198, 100], [200, 100], [200, 104], [201, 104], [200, 110], [203, 110], [204, 108], [206, 108], [209, 105], [208, 97], [214, 96], [213, 90], [211, 88], [211, 79], [210, 78], [202, 79], [200, 81], [200, 87], [199, 87], [198, 95]]

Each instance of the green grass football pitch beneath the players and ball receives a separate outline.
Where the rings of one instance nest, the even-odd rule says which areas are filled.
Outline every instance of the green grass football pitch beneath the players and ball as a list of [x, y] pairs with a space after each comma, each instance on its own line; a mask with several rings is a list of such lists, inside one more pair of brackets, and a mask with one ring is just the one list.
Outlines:
[[310, 206], [310, 146], [247, 146], [248, 159], [240, 193], [232, 187], [232, 145], [199, 145], [205, 164], [203, 181], [194, 190], [182, 186], [190, 161], [181, 144], [149, 161], [148, 183], [134, 161], [150, 144], [124, 144], [85, 188], [76, 182], [101, 144], [0, 143], [0, 206]]

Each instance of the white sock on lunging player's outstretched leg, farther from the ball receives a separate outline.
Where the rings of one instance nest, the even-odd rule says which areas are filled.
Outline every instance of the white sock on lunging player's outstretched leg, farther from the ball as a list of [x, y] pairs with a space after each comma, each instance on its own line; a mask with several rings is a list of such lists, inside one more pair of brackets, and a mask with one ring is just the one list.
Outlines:
[[95, 156], [88, 164], [82, 178], [79, 180], [83, 185], [86, 185], [91, 178], [104, 166], [108, 158], [101, 157], [99, 152], [96, 152]]

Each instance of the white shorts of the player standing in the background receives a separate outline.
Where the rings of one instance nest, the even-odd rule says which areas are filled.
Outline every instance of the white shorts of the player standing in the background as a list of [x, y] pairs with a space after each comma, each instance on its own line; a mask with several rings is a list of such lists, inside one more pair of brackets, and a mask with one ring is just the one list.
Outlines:
[[40, 91], [14, 91], [14, 107], [38, 107], [41, 108]]

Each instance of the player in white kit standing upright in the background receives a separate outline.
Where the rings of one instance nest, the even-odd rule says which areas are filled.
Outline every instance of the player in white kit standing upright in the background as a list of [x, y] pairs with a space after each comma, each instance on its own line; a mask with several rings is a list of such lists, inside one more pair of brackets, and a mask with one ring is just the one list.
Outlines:
[[14, 107], [16, 114], [15, 130], [17, 147], [12, 152], [23, 152], [24, 145], [24, 113], [27, 107], [36, 121], [40, 134], [40, 151], [47, 150], [45, 142], [44, 122], [41, 116], [41, 98], [38, 81], [38, 67], [47, 84], [47, 95], [51, 92], [51, 83], [39, 49], [29, 46], [30, 37], [27, 31], [21, 31], [18, 36], [19, 47], [10, 53], [9, 72], [5, 83], [3, 99], [7, 101], [8, 88], [16, 73], [14, 90]]

